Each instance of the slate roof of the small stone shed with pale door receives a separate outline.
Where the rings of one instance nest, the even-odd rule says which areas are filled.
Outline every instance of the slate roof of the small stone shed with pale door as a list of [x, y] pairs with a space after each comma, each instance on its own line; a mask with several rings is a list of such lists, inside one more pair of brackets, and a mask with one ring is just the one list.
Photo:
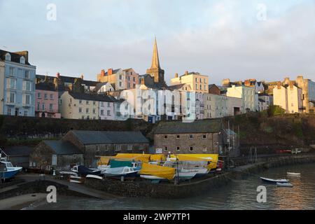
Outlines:
[[43, 141], [57, 155], [83, 154], [76, 146], [68, 141]]

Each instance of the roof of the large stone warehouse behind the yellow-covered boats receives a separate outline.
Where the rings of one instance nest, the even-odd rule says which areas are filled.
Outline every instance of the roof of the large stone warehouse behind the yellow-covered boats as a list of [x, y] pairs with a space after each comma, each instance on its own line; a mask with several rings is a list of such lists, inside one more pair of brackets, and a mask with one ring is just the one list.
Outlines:
[[197, 120], [193, 123], [174, 121], [159, 123], [155, 134], [216, 133], [220, 130], [220, 120]]

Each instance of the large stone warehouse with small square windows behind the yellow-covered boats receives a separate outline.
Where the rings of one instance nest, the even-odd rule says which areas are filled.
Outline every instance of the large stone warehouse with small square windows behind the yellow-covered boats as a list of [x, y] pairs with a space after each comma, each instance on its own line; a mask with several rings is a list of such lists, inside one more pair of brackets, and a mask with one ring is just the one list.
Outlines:
[[164, 122], [155, 130], [154, 144], [163, 153], [223, 154], [226, 134], [221, 120]]

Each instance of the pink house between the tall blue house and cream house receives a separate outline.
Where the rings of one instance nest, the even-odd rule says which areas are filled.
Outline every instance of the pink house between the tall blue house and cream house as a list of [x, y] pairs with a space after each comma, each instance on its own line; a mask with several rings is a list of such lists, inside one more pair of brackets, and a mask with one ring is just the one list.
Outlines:
[[50, 83], [36, 84], [35, 116], [39, 118], [61, 118], [58, 112], [58, 92]]

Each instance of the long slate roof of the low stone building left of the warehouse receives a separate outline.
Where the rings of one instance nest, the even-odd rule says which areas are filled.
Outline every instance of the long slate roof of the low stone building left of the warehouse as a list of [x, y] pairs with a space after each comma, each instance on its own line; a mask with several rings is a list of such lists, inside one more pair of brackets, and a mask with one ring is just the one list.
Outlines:
[[141, 132], [71, 131], [84, 145], [91, 144], [148, 144]]

